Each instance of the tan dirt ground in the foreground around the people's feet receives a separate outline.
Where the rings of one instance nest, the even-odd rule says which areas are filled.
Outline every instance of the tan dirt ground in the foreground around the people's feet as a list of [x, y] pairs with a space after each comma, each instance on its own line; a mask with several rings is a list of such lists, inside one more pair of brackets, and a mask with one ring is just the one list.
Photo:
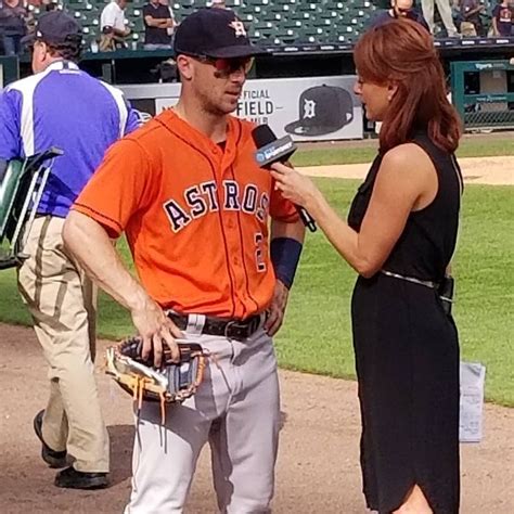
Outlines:
[[[110, 489], [67, 491], [52, 485], [54, 471], [39, 458], [31, 422], [48, 393], [46, 363], [34, 332], [0, 324], [0, 512], [121, 513], [130, 486], [131, 402], [100, 368], [98, 380], [112, 446]], [[106, 342], [100, 343], [103, 354]], [[358, 465], [356, 384], [281, 372], [283, 429], [275, 513], [364, 513]], [[485, 440], [462, 447], [462, 513], [514, 512], [514, 410], [486, 408]], [[215, 513], [203, 452], [188, 513]], [[149, 513], [150, 514], [150, 513]]]

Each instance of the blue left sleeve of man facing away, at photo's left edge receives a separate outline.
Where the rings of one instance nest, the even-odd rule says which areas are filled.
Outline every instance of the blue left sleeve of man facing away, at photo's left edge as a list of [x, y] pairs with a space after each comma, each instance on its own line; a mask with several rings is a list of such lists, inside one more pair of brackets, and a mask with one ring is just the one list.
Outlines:
[[22, 93], [5, 89], [0, 94], [0, 158], [11, 160], [23, 157], [20, 117]]

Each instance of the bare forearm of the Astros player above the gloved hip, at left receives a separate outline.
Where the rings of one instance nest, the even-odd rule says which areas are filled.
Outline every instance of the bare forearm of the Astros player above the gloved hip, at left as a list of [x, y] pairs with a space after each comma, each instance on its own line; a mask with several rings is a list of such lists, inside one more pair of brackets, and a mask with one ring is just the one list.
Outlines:
[[72, 210], [63, 229], [67, 249], [99, 287], [128, 310], [144, 305], [149, 296], [130, 274], [107, 232], [93, 219]]

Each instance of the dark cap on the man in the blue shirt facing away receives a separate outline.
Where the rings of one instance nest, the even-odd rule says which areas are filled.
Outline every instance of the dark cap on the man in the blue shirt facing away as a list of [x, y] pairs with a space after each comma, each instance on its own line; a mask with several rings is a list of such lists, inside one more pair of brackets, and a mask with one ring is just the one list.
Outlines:
[[25, 36], [22, 42], [31, 43], [36, 40], [49, 44], [80, 42], [82, 40], [82, 29], [69, 14], [63, 11], [50, 11], [41, 15], [36, 23], [34, 33]]

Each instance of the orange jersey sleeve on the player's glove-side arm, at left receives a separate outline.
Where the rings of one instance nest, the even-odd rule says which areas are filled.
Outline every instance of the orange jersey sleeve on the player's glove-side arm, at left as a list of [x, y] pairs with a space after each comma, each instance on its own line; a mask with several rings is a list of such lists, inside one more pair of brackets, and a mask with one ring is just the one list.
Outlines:
[[136, 141], [114, 143], [73, 209], [102, 224], [111, 237], [125, 231], [132, 216], [152, 203], [158, 180], [149, 154]]

